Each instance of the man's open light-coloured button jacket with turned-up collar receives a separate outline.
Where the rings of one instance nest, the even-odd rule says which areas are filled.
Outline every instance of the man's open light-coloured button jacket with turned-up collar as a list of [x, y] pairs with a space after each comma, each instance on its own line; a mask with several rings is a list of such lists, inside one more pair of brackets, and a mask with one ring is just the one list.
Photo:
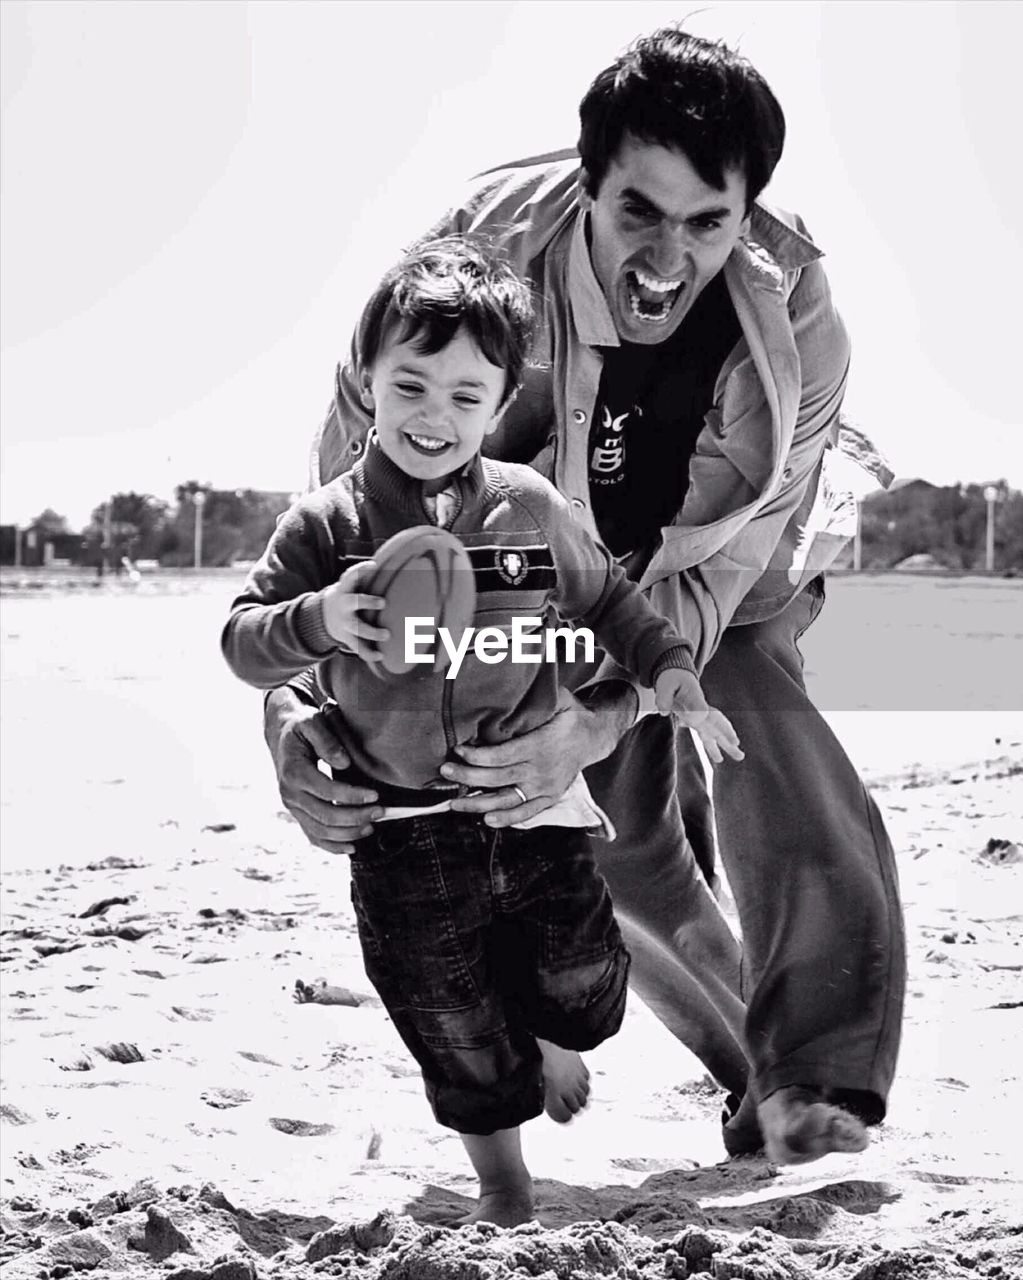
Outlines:
[[[492, 170], [433, 233], [484, 239], [530, 282], [542, 317], [535, 367], [487, 452], [553, 479], [572, 517], [597, 535], [586, 449], [600, 348], [620, 339], [590, 264], [577, 179], [574, 152]], [[880, 483], [891, 479], [840, 422], [849, 339], [821, 256], [798, 218], [754, 206], [749, 236], [723, 268], [743, 338], [717, 379], [680, 509], [648, 563], [630, 568], [694, 643], [698, 668], [726, 626], [777, 613], [854, 531], [855, 502], [828, 477], [832, 449]], [[357, 394], [356, 352], [357, 337], [314, 440], [314, 485], [365, 449], [371, 419]]]

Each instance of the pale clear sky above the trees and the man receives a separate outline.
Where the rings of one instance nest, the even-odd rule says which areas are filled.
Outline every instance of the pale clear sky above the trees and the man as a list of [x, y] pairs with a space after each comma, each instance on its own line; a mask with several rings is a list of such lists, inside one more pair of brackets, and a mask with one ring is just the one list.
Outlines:
[[853, 417], [903, 476], [1023, 486], [1023, 5], [3, 0], [0, 520], [303, 488], [402, 247], [688, 14], [785, 109], [766, 198], [826, 251]]

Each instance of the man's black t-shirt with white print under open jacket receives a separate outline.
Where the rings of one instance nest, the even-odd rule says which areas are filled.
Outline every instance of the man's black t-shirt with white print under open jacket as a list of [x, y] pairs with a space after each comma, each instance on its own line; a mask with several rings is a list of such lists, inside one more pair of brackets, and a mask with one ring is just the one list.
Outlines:
[[613, 556], [648, 559], [677, 515], [714, 383], [740, 337], [718, 274], [666, 342], [604, 348], [589, 485], [597, 529]]

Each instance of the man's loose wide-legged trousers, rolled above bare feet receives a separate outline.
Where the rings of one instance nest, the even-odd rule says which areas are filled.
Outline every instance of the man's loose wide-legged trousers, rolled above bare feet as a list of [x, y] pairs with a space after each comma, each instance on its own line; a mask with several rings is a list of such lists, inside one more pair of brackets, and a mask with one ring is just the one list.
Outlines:
[[713, 772], [741, 946], [707, 887], [689, 732], [647, 717], [586, 778], [618, 832], [597, 858], [635, 991], [732, 1093], [817, 1087], [876, 1123], [901, 1030], [903, 920], [877, 806], [803, 682], [798, 640], [822, 599], [818, 579], [776, 617], [727, 628], [702, 676], [745, 751]]

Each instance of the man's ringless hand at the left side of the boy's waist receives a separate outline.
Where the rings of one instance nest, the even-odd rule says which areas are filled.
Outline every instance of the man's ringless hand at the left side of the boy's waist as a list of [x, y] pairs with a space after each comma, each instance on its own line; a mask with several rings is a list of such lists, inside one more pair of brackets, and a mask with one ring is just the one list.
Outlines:
[[367, 836], [380, 817], [376, 792], [334, 782], [316, 767], [318, 760], [337, 769], [351, 764], [332, 727], [337, 708], [316, 710], [293, 689], [275, 689], [266, 699], [264, 736], [277, 769], [284, 808], [306, 840], [328, 854], [353, 852], [353, 841]]

